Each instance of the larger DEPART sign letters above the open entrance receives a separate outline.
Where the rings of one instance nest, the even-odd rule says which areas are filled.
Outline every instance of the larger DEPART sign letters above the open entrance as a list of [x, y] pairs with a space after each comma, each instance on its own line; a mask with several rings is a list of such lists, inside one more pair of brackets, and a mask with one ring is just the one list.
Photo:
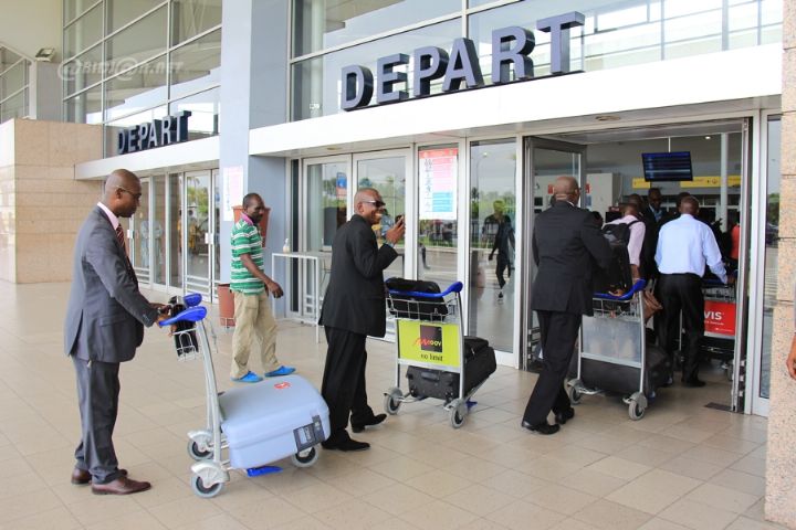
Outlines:
[[[569, 29], [584, 25], [584, 15], [577, 11], [542, 19], [536, 29], [551, 34], [551, 73], [569, 73]], [[511, 82], [510, 66], [514, 65], [515, 81], [532, 80], [533, 60], [528, 56], [536, 45], [532, 31], [517, 25], [492, 32], [492, 84]], [[408, 76], [395, 68], [409, 64], [409, 55], [396, 53], [376, 61], [376, 104], [404, 102], [409, 98]], [[451, 51], [437, 46], [418, 47], [412, 53], [413, 97], [431, 94], [431, 82], [442, 78], [442, 92], [478, 88], [484, 85], [478, 61], [475, 43], [470, 39], [455, 39]], [[374, 74], [369, 68], [353, 64], [342, 71], [343, 94], [341, 108], [354, 110], [370, 104], [374, 94]], [[401, 87], [404, 87], [401, 89]]]

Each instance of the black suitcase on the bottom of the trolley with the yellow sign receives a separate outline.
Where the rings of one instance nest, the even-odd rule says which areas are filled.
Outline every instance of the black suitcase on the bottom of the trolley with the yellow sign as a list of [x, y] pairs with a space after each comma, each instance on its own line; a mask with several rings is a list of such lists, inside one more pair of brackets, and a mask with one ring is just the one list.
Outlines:
[[[494, 350], [485, 339], [464, 337], [464, 394], [498, 369]], [[437, 398], [446, 403], [459, 398], [459, 374], [430, 368], [407, 369], [409, 393], [415, 398]]]

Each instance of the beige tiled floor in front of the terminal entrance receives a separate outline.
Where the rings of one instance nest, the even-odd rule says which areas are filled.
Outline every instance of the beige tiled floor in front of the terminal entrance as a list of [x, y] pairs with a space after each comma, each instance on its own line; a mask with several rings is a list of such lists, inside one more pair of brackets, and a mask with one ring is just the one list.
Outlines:
[[[615, 399], [585, 398], [555, 436], [520, 414], [535, 375], [500, 368], [453, 431], [431, 404], [357, 437], [369, 452], [322, 451], [314, 467], [232, 483], [210, 500], [190, 490], [185, 433], [202, 425], [198, 362], [178, 363], [170, 339], [147, 331], [122, 368], [119, 460], [150, 491], [97, 497], [69, 481], [78, 414], [62, 352], [69, 286], [0, 283], [1, 529], [760, 529], [766, 421], [705, 409], [726, 383], [661, 392], [631, 422]], [[157, 299], [157, 296], [154, 296]], [[222, 388], [231, 336], [219, 332]], [[391, 385], [394, 344], [369, 343], [370, 403]], [[281, 322], [279, 356], [320, 385], [325, 346], [311, 327]]]

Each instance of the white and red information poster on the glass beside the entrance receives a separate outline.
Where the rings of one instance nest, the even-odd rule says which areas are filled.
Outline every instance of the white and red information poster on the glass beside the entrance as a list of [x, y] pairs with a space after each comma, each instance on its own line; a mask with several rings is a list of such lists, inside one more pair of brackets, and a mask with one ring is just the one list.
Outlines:
[[429, 149], [419, 157], [420, 220], [455, 220], [459, 149]]

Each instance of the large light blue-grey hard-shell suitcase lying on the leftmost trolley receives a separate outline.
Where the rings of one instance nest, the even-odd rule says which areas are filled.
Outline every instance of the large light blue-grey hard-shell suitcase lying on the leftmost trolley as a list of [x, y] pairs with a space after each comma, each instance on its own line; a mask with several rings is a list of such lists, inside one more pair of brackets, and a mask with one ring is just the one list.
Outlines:
[[219, 396], [232, 467], [247, 469], [295, 455], [329, 435], [328, 406], [304, 378], [286, 375]]

